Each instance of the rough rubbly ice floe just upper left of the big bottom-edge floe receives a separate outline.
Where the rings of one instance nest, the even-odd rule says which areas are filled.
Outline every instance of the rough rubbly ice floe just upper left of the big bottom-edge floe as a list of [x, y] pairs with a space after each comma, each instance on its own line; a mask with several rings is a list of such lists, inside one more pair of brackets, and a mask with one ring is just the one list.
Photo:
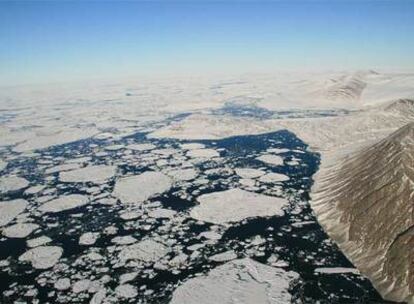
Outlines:
[[164, 244], [148, 239], [122, 248], [118, 257], [121, 261], [140, 260], [143, 262], [156, 262], [168, 252], [168, 247]]

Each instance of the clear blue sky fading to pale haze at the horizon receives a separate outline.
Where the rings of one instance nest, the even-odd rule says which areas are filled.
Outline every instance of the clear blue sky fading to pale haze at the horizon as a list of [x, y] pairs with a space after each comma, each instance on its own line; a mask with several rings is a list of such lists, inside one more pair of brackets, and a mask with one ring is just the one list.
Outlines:
[[414, 1], [0, 1], [0, 86], [414, 69]]

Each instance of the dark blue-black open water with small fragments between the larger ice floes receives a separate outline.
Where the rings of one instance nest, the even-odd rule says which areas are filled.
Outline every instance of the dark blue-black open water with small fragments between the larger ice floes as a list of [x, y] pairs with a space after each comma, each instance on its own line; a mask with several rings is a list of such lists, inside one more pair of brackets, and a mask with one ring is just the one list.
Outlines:
[[[157, 148], [178, 147], [180, 143], [175, 140], [148, 140], [145, 133], [138, 133], [126, 137], [116, 143], [141, 143], [151, 142]], [[179, 271], [155, 270], [153, 265], [145, 265], [139, 271], [140, 275], [130, 282], [138, 287], [146, 286], [139, 290], [137, 299], [147, 303], [168, 303], [173, 290], [180, 282], [201, 272], [208, 272], [210, 269], [221, 263], [212, 262], [208, 257], [216, 253], [234, 250], [239, 257], [249, 256], [259, 262], [268, 264], [268, 258], [272, 255], [278, 261], [284, 262], [285, 270], [292, 270], [300, 275], [300, 279], [293, 282], [290, 292], [293, 303], [386, 303], [381, 300], [375, 289], [368, 280], [353, 274], [316, 274], [314, 269], [317, 267], [352, 267], [352, 264], [338, 250], [323, 232], [317, 223], [315, 216], [309, 206], [309, 190], [312, 184], [311, 176], [316, 172], [319, 165], [319, 156], [307, 149], [307, 145], [299, 140], [294, 134], [288, 131], [279, 131], [263, 135], [238, 136], [223, 140], [214, 141], [186, 141], [197, 142], [206, 147], [218, 149], [223, 161], [216, 162], [209, 160], [197, 164], [201, 175], [209, 169], [220, 169], [224, 167], [238, 168], [262, 168], [267, 172], [276, 172], [288, 175], [290, 180], [279, 185], [263, 184], [256, 192], [269, 194], [272, 188], [281, 186], [279, 195], [289, 199], [289, 206], [285, 214], [281, 217], [255, 218], [240, 223], [235, 223], [231, 227], [222, 229], [222, 237], [215, 243], [207, 244], [200, 249], [200, 256], [192, 259]], [[91, 146], [92, 144], [92, 146]], [[38, 151], [40, 156], [34, 159], [16, 159], [9, 164], [6, 172], [19, 170], [20, 175], [26, 177], [33, 184], [42, 183], [44, 174], [40, 169], [40, 160], [51, 160], [57, 163], [56, 159], [71, 159], [74, 157], [90, 156], [88, 163], [104, 164], [115, 163], [119, 167], [119, 175], [127, 173], [141, 173], [152, 170], [153, 165], [146, 162], [128, 163], [123, 160], [123, 153], [119, 151], [108, 152], [106, 156], [96, 156], [94, 151], [98, 147], [109, 145], [105, 140], [84, 140], [59, 147], [52, 147], [43, 151]], [[282, 153], [285, 163], [283, 166], [266, 166], [255, 158], [269, 148], [287, 148], [289, 152]], [[296, 159], [299, 165], [288, 165], [292, 159]], [[170, 158], [166, 158], [170, 160]], [[191, 183], [181, 187], [171, 189], [168, 193], [155, 197], [151, 201], [159, 201], [165, 208], [171, 208], [186, 214], [188, 210], [196, 204], [196, 195], [213, 191], [226, 190], [240, 186], [239, 178], [235, 174], [226, 172], [206, 175], [207, 184], [194, 185]], [[114, 181], [110, 181], [104, 191], [110, 192]], [[91, 185], [67, 185], [54, 180], [50, 182], [47, 189], [55, 189], [57, 195], [68, 193], [85, 194], [88, 186]], [[186, 194], [183, 198], [183, 194]], [[34, 204], [35, 196], [26, 196], [16, 193], [4, 196], [3, 199], [23, 197]], [[15, 300], [31, 301], [33, 297], [26, 297], [25, 291], [33, 285], [38, 294], [34, 298], [40, 303], [60, 303], [62, 301], [60, 293], [53, 292], [52, 276], [70, 277], [76, 273], [81, 273], [83, 277], [95, 276], [99, 278], [105, 274], [111, 277], [106, 287], [114, 288], [118, 285], [117, 278], [120, 274], [127, 272], [126, 267], [113, 268], [111, 259], [114, 254], [110, 253], [109, 247], [112, 245], [110, 240], [115, 235], [104, 235], [98, 239], [97, 243], [90, 246], [78, 244], [79, 236], [84, 232], [103, 232], [108, 226], [118, 229], [119, 235], [132, 235], [140, 240], [147, 236], [165, 235], [174, 239], [177, 244], [183, 247], [185, 254], [191, 254], [187, 248], [196, 243], [202, 243], [204, 238], [199, 238], [200, 233], [209, 231], [211, 224], [196, 222], [190, 218], [181, 223], [169, 227], [168, 219], [156, 219], [149, 221], [147, 218], [138, 218], [132, 224], [125, 224], [120, 220], [118, 211], [120, 206], [104, 206], [92, 204], [74, 210], [62, 212], [55, 215], [32, 216], [34, 221], [39, 224], [41, 232], [34, 234], [31, 238], [47, 235], [53, 241], [50, 245], [61, 246], [64, 250], [62, 262], [69, 266], [69, 270], [58, 269], [52, 274], [50, 271], [32, 270], [27, 264], [17, 262], [19, 255], [24, 253], [26, 248], [25, 240], [1, 239], [0, 241], [0, 260], [7, 259], [9, 267], [0, 268], [0, 297], [1, 303], [13, 303]], [[73, 216], [76, 214], [76, 216]], [[305, 222], [300, 226], [297, 223]], [[296, 224], [295, 224], [296, 223]], [[50, 225], [52, 224], [52, 225]], [[292, 225], [293, 224], [293, 225]], [[145, 227], [147, 226], [147, 227]], [[145, 229], [144, 229], [145, 227]], [[165, 229], [164, 229], [165, 228]], [[258, 238], [260, 237], [260, 238]], [[257, 242], [252, 242], [256, 238]], [[264, 240], [264, 241], [263, 241]], [[74, 266], [75, 260], [86, 252], [98, 252], [106, 258], [97, 263], [85, 263]], [[171, 257], [177, 253], [169, 253]], [[98, 272], [97, 269], [108, 269], [105, 272]], [[36, 280], [40, 277], [49, 278], [44, 286], [40, 286]], [[9, 293], [12, 290], [13, 293]], [[152, 294], [145, 293], [151, 290]], [[88, 303], [91, 295], [79, 296], [70, 302]]]

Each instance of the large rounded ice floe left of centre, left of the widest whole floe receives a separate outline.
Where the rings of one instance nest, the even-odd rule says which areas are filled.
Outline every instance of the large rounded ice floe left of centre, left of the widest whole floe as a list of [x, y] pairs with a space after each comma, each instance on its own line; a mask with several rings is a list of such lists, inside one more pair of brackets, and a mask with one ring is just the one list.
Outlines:
[[140, 175], [120, 178], [114, 187], [113, 196], [123, 204], [140, 204], [147, 199], [168, 191], [172, 180], [159, 172], [144, 172]]

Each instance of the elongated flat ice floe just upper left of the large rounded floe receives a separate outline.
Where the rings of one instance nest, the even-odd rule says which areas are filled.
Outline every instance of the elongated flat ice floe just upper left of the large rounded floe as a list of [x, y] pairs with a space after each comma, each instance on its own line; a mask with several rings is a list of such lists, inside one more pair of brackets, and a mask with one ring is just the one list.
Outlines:
[[116, 173], [116, 166], [88, 166], [72, 171], [61, 172], [59, 180], [65, 183], [103, 183], [113, 177]]

